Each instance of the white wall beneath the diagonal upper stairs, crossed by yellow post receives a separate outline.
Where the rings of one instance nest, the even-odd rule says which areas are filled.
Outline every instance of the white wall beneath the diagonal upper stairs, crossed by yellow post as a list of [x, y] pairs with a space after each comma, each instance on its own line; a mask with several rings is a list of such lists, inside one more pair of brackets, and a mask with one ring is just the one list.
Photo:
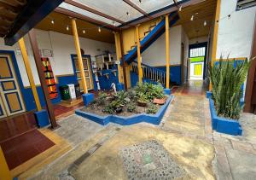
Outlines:
[[[180, 65], [182, 26], [170, 28], [170, 65]], [[142, 54], [143, 63], [153, 66], [166, 66], [166, 33], [163, 33]]]

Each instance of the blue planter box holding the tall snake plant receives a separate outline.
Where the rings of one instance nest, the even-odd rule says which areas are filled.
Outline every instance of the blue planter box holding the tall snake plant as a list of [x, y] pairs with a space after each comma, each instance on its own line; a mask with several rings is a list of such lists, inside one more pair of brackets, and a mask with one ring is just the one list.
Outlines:
[[225, 134], [230, 135], [241, 135], [241, 125], [235, 119], [225, 119], [222, 117], [218, 117], [214, 102], [211, 97], [209, 97], [210, 102], [210, 111], [211, 111], [211, 118], [212, 118], [212, 129], [218, 132], [222, 132]]

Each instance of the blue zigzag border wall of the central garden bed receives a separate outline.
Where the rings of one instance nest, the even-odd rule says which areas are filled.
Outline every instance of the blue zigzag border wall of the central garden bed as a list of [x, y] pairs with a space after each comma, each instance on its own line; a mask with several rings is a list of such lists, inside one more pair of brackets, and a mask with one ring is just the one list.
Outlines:
[[173, 96], [169, 96], [166, 103], [160, 107], [158, 113], [156, 114], [148, 114], [148, 113], [140, 113], [132, 116], [117, 116], [117, 115], [107, 115], [107, 116], [99, 116], [95, 113], [86, 113], [81, 110], [76, 110], [75, 113], [86, 118], [90, 119], [96, 123], [101, 125], [108, 125], [109, 122], [116, 123], [119, 125], [132, 125], [140, 122], [147, 122], [153, 125], [159, 125], [161, 119], [166, 113], [166, 108], [172, 102]]

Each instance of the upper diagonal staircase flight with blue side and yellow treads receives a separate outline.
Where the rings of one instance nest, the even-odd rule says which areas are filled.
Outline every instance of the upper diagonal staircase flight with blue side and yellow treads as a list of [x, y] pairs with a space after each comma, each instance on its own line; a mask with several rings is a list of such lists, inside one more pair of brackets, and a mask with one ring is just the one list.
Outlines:
[[[173, 26], [177, 20], [179, 19], [179, 16], [176, 12], [172, 12], [169, 15], [169, 26]], [[154, 43], [154, 41], [159, 38], [164, 32], [166, 31], [166, 20], [163, 19], [158, 23], [157, 25], [151, 25], [148, 27], [148, 30], [144, 32], [144, 37], [140, 38], [140, 44], [141, 44], [141, 53], [145, 49], [148, 49], [148, 47]], [[131, 50], [128, 51], [128, 53], [125, 55], [125, 62], [128, 64], [131, 64], [132, 61], [134, 61], [137, 58], [137, 43], [131, 46]]]

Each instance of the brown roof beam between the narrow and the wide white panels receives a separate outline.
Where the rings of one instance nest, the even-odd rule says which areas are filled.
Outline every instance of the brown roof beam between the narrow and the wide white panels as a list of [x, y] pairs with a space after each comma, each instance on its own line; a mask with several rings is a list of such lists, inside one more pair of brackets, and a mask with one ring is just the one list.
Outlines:
[[112, 17], [112, 16], [110, 16], [110, 15], [106, 15], [106, 14], [104, 14], [104, 13], [102, 13], [102, 12], [96, 10], [96, 9], [92, 9], [92, 8], [90, 8], [90, 7], [88, 7], [88, 6], [84, 5], [84, 4], [82, 4], [82, 3], [78, 3], [78, 2], [75, 2], [75, 1], [73, 1], [73, 0], [65, 0], [65, 3], [68, 3], [68, 4], [70, 4], [70, 5], [73, 5], [73, 6], [77, 7], [77, 8], [79, 8], [79, 9], [84, 9], [84, 10], [86, 10], [86, 11], [89, 11], [90, 13], [93, 13], [93, 14], [95, 14], [95, 15], [100, 15], [100, 16], [102, 16], [102, 17], [104, 17], [104, 18], [107, 18], [108, 20], [113, 20], [113, 21], [115, 21], [115, 22], [119, 22], [120, 24], [125, 23], [125, 22], [122, 21], [122, 20], [119, 20], [119, 19], [117, 19], [117, 18], [114, 18], [114, 17]]

